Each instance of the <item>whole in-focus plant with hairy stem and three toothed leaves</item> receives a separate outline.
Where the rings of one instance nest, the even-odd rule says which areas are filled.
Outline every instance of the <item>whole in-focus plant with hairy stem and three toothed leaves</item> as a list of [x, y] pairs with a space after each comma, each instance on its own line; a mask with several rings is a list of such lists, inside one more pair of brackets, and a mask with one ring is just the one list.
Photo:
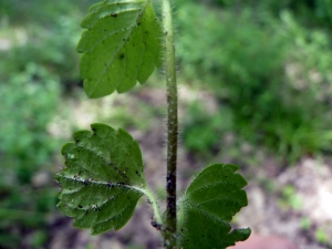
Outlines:
[[[104, 0], [91, 7], [81, 23], [83, 53], [80, 73], [89, 97], [124, 93], [144, 83], [164, 63], [167, 87], [167, 209], [162, 215], [144, 176], [137, 142], [123, 129], [92, 124], [92, 132], [74, 134], [62, 148], [65, 165], [56, 180], [62, 187], [58, 207], [74, 218], [77, 228], [93, 235], [121, 229], [137, 200], [149, 200], [152, 226], [170, 248], [226, 248], [246, 240], [250, 229], [234, 229], [232, 216], [247, 205], [247, 185], [238, 166], [214, 164], [200, 172], [184, 196], [176, 198], [177, 85], [172, 8], [162, 1], [163, 27], [149, 0]], [[164, 44], [160, 41], [164, 40]], [[231, 231], [230, 231], [231, 230]]]

